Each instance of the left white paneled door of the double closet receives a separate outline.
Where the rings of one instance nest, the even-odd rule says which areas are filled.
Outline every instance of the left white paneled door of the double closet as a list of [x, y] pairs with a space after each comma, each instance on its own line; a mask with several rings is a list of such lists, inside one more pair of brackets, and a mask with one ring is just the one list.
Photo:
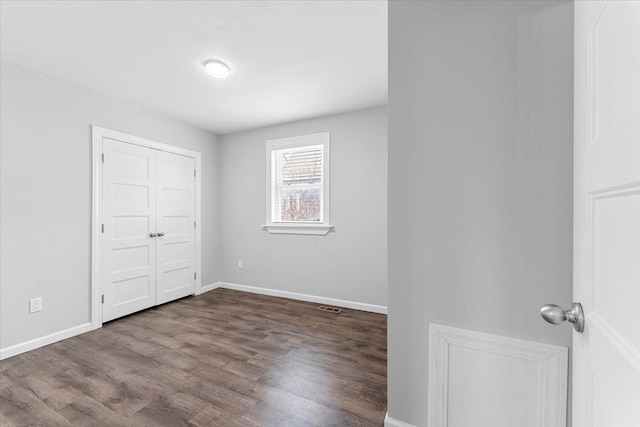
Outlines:
[[156, 303], [156, 150], [103, 139], [104, 322]]

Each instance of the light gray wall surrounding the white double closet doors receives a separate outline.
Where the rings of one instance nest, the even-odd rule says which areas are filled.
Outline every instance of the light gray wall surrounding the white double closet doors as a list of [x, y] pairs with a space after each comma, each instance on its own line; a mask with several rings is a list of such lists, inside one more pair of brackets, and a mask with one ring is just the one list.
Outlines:
[[0, 348], [90, 322], [91, 125], [202, 153], [202, 284], [220, 279], [216, 135], [6, 61], [0, 91]]

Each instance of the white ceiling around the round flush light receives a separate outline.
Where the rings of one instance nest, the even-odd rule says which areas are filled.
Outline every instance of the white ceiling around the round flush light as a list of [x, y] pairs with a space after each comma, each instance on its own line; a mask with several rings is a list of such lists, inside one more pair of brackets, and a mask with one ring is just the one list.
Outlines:
[[0, 7], [3, 59], [220, 134], [387, 103], [386, 1]]

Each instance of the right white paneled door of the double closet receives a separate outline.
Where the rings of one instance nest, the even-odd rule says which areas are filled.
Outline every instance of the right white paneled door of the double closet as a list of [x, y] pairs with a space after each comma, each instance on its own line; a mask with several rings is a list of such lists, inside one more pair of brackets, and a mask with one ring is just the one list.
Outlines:
[[158, 151], [156, 303], [195, 293], [195, 160]]

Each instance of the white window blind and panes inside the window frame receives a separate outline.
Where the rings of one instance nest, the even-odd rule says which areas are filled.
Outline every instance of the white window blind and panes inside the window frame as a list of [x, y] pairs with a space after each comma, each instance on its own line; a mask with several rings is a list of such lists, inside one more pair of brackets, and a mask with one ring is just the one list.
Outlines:
[[323, 222], [323, 145], [271, 152], [272, 222]]

